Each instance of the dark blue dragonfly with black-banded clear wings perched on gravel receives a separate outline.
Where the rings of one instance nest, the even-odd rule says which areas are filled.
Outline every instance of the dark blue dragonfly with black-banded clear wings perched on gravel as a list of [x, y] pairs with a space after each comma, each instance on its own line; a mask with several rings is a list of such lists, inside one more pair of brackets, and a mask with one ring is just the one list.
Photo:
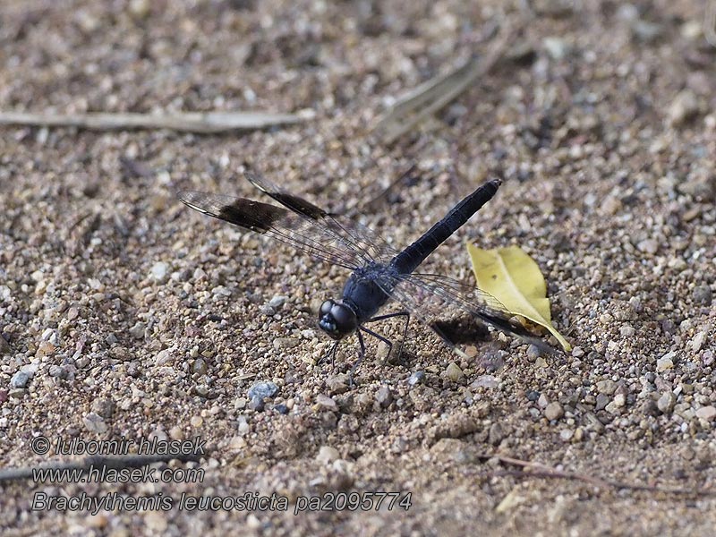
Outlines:
[[[376, 337], [388, 345], [388, 355], [393, 350], [393, 342], [365, 325], [396, 317], [405, 319], [401, 349], [408, 323], [413, 317], [430, 327], [448, 347], [466, 358], [467, 355], [454, 343], [454, 337], [448, 337], [442, 328], [446, 316], [455, 315], [482, 321], [551, 353], [550, 345], [524, 328], [490, 294], [452, 277], [416, 272], [430, 253], [495, 195], [502, 183], [499, 178], [483, 183], [417, 241], [397, 251], [367, 226], [286, 192], [251, 169], [244, 171], [244, 175], [261, 192], [277, 201], [280, 207], [209, 192], [179, 192], [178, 198], [200, 213], [267, 235], [313, 258], [351, 271], [341, 298], [326, 300], [318, 311], [318, 326], [335, 341], [328, 351], [332, 362], [335, 362], [338, 345], [345, 337], [353, 334], [358, 337], [360, 353], [350, 371], [351, 384], [354, 371], [365, 356], [362, 334]], [[379, 315], [382, 307], [390, 301], [399, 303], [402, 310]]]

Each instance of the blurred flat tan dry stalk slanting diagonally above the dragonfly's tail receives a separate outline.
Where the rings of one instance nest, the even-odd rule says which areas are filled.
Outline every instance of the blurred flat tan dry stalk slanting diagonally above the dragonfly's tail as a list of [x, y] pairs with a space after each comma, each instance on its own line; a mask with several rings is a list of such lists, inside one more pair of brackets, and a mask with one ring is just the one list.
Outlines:
[[381, 140], [386, 144], [396, 141], [405, 132], [455, 100], [498, 63], [514, 34], [514, 30], [506, 30], [483, 58], [475, 56], [456, 70], [423, 82], [399, 99], [374, 129]]

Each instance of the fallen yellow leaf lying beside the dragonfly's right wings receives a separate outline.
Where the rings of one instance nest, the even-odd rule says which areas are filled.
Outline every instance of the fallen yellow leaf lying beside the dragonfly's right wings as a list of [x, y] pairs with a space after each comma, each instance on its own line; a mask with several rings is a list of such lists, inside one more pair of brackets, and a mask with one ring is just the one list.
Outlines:
[[537, 263], [519, 246], [482, 250], [467, 244], [477, 286], [491, 294], [508, 311], [550, 330], [565, 351], [572, 345], [552, 326], [547, 284]]

